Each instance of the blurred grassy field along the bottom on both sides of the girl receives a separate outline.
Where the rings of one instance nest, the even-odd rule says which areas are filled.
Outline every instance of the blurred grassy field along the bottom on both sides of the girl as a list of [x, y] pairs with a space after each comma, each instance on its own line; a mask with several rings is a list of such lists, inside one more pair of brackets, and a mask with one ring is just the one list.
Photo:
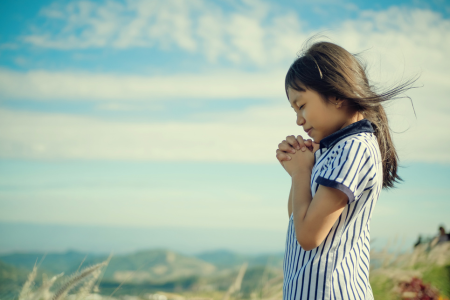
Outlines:
[[[238, 300], [282, 299], [283, 274], [279, 266], [250, 266], [247, 262], [234, 268], [221, 268], [203, 276], [180, 277], [171, 284], [151, 284], [127, 280], [104, 279], [111, 257], [81, 269], [70, 276], [47, 277], [41, 274], [37, 285], [38, 268], [27, 275], [25, 283], [11, 299], [19, 300]], [[449, 299], [450, 298], [450, 242], [431, 247], [428, 243], [408, 253], [372, 251], [370, 282], [375, 299]], [[6, 270], [2, 267], [2, 271]], [[160, 267], [162, 268], [162, 267]], [[5, 271], [6, 272], [6, 271]], [[24, 270], [20, 271], [23, 276]], [[13, 273], [8, 273], [13, 274]], [[19, 273], [17, 273], [19, 274]], [[136, 273], [129, 273], [129, 278]], [[142, 275], [142, 274], [141, 274]], [[8, 282], [18, 282], [18, 277]], [[134, 276], [134, 277], [133, 277]], [[3, 283], [6, 281], [3, 279]], [[20, 291], [20, 292], [19, 292]]]

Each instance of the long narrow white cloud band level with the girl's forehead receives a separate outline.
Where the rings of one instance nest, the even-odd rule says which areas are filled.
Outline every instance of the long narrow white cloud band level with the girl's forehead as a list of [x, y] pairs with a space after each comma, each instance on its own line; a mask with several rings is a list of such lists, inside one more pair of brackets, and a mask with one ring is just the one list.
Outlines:
[[248, 73], [216, 70], [206, 74], [144, 77], [0, 69], [0, 96], [33, 100], [133, 100], [170, 98], [236, 99], [285, 97], [285, 71]]

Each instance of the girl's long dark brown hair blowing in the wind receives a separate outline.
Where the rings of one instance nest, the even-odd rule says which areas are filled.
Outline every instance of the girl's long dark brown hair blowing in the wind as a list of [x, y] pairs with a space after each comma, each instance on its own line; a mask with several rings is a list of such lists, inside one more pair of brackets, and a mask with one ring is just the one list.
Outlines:
[[[311, 39], [308, 40], [310, 41]], [[369, 83], [367, 67], [359, 54], [351, 54], [330, 42], [315, 42], [305, 49], [286, 74], [286, 95], [288, 88], [303, 91], [303, 87], [306, 87], [321, 94], [324, 101], [327, 101], [329, 96], [347, 100], [347, 105], [372, 123], [381, 151], [383, 188], [394, 187], [394, 183], [402, 179], [397, 174], [398, 155], [382, 103], [405, 98], [399, 95], [415, 88], [412, 84], [420, 76], [417, 75], [384, 92], [376, 92], [376, 88]]]

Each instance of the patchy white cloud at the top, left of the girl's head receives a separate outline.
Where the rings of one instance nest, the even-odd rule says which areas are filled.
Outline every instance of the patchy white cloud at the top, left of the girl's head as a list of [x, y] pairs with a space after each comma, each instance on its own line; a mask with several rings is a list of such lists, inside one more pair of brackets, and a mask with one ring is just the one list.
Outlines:
[[[244, 1], [235, 11], [225, 12], [203, 0], [53, 4], [41, 11], [53, 26], [36, 30], [22, 40], [62, 50], [176, 47], [200, 52], [210, 61], [223, 57], [236, 63], [266, 66], [292, 57], [292, 47], [298, 47], [305, 38], [292, 13], [269, 16], [270, 6], [261, 1]], [[286, 20], [289, 27], [280, 20]], [[286, 35], [294, 39], [284, 49], [284, 56], [271, 56], [282, 49], [280, 45], [286, 45]]]

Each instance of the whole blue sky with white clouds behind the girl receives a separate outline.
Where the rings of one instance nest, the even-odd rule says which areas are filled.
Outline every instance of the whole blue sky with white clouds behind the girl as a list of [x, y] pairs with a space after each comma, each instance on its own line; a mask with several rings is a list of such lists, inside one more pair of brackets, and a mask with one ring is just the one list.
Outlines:
[[[414, 109], [387, 106], [405, 182], [382, 193], [372, 238], [450, 227], [448, 2], [292, 2], [2, 1], [0, 251], [94, 247], [20, 226], [134, 236], [103, 251], [283, 251], [290, 177], [275, 150], [304, 134], [284, 75], [318, 33], [361, 53], [380, 88], [420, 75]], [[174, 243], [181, 231], [196, 238]]]

